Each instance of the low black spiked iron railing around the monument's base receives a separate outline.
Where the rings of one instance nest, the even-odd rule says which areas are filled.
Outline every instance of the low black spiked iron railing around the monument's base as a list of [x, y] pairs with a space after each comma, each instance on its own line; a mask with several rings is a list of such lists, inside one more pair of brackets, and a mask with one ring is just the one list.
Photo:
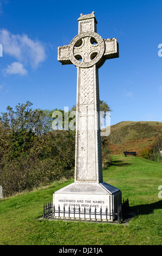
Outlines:
[[73, 208], [68, 207], [65, 209], [58, 209], [52, 203], [44, 204], [43, 206], [43, 219], [49, 218], [51, 220], [69, 220], [69, 221], [90, 221], [90, 222], [117, 222], [121, 223], [121, 220], [124, 219], [124, 216], [127, 214], [129, 210], [129, 201], [128, 199], [124, 201], [121, 205], [118, 206], [117, 212], [108, 211], [106, 207], [105, 210], [102, 207], [97, 211], [96, 207], [95, 210], [92, 211], [91, 207], [89, 210], [76, 209], [75, 206]]

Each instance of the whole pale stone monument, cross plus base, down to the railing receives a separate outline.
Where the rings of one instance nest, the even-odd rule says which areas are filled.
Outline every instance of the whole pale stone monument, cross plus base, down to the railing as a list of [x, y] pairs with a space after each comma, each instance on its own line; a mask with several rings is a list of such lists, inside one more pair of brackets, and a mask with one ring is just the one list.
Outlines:
[[[78, 35], [69, 45], [58, 47], [61, 64], [77, 67], [76, 162], [74, 184], [53, 194], [56, 208], [95, 205], [110, 211], [121, 204], [121, 191], [103, 182], [99, 124], [98, 69], [106, 59], [119, 57], [117, 39], [102, 39], [92, 14], [81, 14]], [[80, 202], [80, 203], [79, 203]], [[89, 203], [88, 203], [89, 202]], [[103, 203], [104, 202], [104, 203]], [[82, 203], [82, 204], [81, 204]], [[92, 210], [94, 210], [92, 206]]]

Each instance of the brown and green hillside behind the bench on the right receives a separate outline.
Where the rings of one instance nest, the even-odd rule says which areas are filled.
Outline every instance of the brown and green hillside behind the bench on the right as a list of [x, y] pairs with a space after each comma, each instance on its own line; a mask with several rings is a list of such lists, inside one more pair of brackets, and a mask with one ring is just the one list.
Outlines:
[[112, 154], [123, 151], [139, 153], [151, 145], [158, 135], [162, 135], [162, 122], [157, 121], [122, 121], [110, 127], [107, 144]]

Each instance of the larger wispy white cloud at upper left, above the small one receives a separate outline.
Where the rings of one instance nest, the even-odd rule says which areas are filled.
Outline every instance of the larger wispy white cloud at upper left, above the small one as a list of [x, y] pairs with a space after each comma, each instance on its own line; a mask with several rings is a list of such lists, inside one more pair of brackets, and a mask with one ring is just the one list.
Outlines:
[[7, 29], [0, 29], [0, 42], [3, 53], [15, 57], [23, 65], [38, 68], [46, 59], [45, 46], [39, 40], [32, 40], [28, 35], [14, 35]]

